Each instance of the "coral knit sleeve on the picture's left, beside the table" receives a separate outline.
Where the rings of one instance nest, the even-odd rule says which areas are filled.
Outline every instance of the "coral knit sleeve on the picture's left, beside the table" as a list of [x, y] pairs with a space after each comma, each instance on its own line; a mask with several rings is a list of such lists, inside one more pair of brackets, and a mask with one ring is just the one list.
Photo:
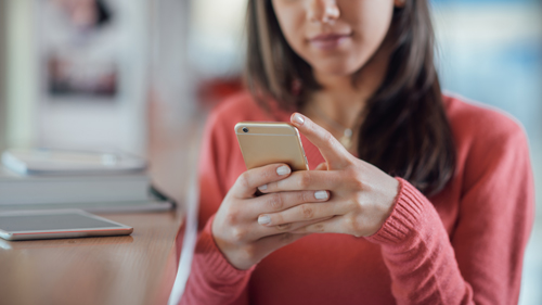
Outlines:
[[227, 127], [217, 112], [207, 119], [198, 170], [201, 231], [180, 304], [248, 304], [247, 283], [251, 269], [235, 269], [217, 247], [211, 232], [215, 213], [228, 192], [225, 158], [233, 128]]

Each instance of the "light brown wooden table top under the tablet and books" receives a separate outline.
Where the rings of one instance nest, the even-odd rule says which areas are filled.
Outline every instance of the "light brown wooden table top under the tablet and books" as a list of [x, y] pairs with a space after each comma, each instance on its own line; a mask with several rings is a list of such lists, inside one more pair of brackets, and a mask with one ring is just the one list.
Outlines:
[[182, 213], [102, 214], [129, 237], [0, 243], [0, 304], [166, 304]]

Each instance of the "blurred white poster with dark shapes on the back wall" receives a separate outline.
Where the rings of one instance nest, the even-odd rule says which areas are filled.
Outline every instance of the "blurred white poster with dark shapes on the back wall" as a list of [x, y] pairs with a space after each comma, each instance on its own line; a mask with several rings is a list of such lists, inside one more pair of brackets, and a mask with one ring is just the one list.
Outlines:
[[151, 1], [33, 1], [39, 144], [143, 155]]

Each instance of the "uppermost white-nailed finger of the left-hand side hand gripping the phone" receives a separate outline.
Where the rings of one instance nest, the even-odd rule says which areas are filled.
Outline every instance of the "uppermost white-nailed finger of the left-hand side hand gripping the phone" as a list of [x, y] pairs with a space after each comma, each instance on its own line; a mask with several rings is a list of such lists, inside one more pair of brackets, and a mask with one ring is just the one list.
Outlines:
[[284, 179], [291, 173], [289, 166], [283, 163], [248, 169], [237, 177], [232, 192], [237, 198], [253, 198], [258, 187]]

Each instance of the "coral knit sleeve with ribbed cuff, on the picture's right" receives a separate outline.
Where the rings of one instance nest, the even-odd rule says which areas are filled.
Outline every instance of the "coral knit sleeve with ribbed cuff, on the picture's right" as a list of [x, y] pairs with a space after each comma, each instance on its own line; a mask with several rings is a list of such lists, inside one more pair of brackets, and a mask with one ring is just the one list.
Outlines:
[[515, 304], [533, 223], [534, 191], [525, 134], [473, 144], [451, 237], [434, 205], [400, 178], [379, 231], [398, 304]]

